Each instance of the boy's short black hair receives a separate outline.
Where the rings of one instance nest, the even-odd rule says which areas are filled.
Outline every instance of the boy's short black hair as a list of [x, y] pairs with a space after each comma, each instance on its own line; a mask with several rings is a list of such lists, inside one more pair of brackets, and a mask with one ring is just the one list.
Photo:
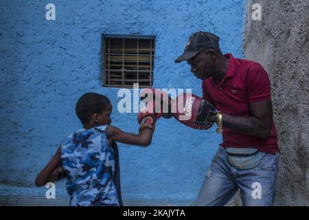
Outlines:
[[76, 115], [82, 124], [87, 124], [94, 113], [102, 113], [108, 104], [111, 101], [106, 96], [89, 92], [82, 95], [76, 103]]

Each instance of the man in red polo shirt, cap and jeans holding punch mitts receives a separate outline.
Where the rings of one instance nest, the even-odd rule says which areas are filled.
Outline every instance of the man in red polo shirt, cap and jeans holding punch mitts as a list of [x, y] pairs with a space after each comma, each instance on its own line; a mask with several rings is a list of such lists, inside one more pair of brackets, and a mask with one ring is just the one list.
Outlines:
[[271, 84], [262, 65], [223, 55], [218, 42], [215, 34], [196, 32], [175, 61], [187, 61], [203, 80], [203, 99], [216, 108], [207, 120], [222, 125], [223, 142], [196, 206], [224, 206], [238, 189], [244, 206], [272, 206], [279, 153]]

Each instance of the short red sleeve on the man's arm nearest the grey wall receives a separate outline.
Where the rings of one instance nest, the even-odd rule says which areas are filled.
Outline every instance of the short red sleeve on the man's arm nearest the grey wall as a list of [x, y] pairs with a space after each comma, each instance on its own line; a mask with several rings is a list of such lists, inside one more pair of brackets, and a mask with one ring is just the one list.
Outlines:
[[259, 65], [249, 67], [247, 72], [247, 94], [249, 102], [262, 102], [271, 99], [271, 82], [265, 69]]

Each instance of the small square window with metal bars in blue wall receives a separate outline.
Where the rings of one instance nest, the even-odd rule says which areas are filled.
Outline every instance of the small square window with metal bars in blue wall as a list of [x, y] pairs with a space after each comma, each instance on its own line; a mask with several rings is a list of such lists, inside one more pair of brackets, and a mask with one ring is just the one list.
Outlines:
[[152, 87], [155, 38], [102, 36], [104, 87]]

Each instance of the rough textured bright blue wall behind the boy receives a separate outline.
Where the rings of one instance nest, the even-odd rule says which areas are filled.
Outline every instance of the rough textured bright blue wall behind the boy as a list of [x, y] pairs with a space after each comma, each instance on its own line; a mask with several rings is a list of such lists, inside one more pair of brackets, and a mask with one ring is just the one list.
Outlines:
[[[56, 21], [45, 5], [56, 5]], [[76, 100], [88, 91], [114, 106], [113, 125], [137, 133], [135, 113], [117, 113], [116, 88], [101, 85], [102, 34], [154, 35], [154, 86], [192, 88], [201, 81], [174, 59], [198, 30], [220, 36], [223, 52], [241, 57], [244, 1], [1, 1], [0, 196], [45, 197], [38, 170], [63, 137], [81, 127]], [[195, 131], [159, 120], [148, 148], [119, 144], [124, 199], [194, 201], [221, 141], [215, 128]], [[56, 184], [65, 197], [64, 182]]]

